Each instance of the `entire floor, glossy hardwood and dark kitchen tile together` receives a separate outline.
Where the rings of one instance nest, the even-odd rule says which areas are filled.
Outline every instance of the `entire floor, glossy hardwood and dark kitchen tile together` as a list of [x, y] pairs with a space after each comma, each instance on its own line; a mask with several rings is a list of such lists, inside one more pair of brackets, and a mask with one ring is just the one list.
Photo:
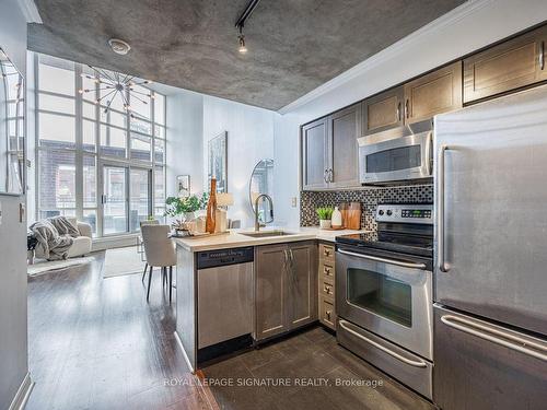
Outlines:
[[[140, 274], [102, 278], [104, 255], [28, 280], [28, 410], [432, 409], [316, 327], [205, 366], [202, 387], [173, 336], [175, 309], [154, 271], [150, 304]], [[296, 386], [295, 379], [328, 385]], [[290, 386], [266, 387], [265, 380]], [[382, 380], [376, 388], [336, 380]], [[242, 386], [241, 380], [258, 385]]]

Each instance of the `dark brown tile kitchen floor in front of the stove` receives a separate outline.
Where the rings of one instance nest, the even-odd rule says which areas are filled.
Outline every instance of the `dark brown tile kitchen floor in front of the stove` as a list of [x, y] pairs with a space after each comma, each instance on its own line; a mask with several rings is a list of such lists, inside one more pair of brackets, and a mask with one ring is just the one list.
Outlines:
[[[336, 342], [322, 327], [300, 332], [203, 368], [222, 409], [247, 410], [431, 410], [435, 407]], [[243, 380], [289, 386], [244, 386]], [[233, 386], [216, 386], [232, 380]], [[299, 385], [296, 385], [296, 380]], [[338, 385], [371, 380], [382, 385]], [[306, 383], [316, 386], [303, 386]], [[257, 406], [259, 403], [259, 406]]]

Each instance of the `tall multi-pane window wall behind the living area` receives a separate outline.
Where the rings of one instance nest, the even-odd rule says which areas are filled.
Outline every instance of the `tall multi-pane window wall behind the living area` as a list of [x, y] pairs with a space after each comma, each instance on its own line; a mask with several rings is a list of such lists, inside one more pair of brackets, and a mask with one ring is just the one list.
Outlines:
[[96, 236], [163, 219], [165, 96], [137, 85], [131, 115], [119, 96], [96, 103], [106, 91], [86, 66], [36, 55], [35, 71], [37, 218], [77, 216]]

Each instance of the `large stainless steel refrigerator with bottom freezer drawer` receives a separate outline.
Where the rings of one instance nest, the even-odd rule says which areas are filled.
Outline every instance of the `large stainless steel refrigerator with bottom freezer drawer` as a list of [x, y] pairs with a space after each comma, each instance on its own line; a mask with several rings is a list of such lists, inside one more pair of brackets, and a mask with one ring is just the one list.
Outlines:
[[434, 401], [545, 409], [547, 86], [434, 130]]

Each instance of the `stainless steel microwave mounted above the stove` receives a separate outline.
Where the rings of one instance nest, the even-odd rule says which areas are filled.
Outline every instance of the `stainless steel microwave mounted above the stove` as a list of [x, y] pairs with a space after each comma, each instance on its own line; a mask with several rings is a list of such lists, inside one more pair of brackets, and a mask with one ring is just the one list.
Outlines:
[[[405, 132], [406, 131], [406, 132]], [[363, 185], [419, 181], [433, 176], [432, 129], [395, 129], [361, 137], [359, 180]]]

